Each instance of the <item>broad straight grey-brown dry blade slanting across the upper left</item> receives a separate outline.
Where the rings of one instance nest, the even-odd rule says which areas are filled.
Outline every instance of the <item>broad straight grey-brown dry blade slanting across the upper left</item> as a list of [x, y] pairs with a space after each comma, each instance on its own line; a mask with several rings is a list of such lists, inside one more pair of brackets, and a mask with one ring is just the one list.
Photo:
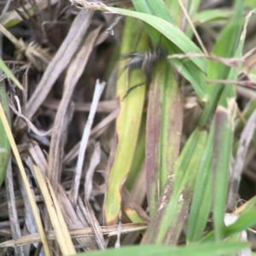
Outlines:
[[[83, 9], [73, 20], [73, 25], [67, 37], [61, 44], [54, 58], [49, 62], [37, 89], [34, 91], [29, 102], [27, 102], [25, 115], [28, 119], [31, 119], [33, 114], [37, 112], [46, 96], [48, 96], [49, 90], [51, 90], [52, 86], [55, 84], [56, 79], [58, 79], [61, 72], [69, 65], [74, 53], [79, 49], [84, 34], [90, 26], [93, 13], [93, 11]], [[24, 127], [24, 124], [20, 124], [16, 129], [20, 130]]]

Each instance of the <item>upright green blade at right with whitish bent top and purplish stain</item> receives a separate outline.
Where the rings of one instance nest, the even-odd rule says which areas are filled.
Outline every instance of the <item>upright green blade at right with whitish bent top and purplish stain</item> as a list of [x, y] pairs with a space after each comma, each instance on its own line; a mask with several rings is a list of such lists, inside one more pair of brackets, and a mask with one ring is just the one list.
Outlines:
[[[236, 8], [238, 7], [240, 7], [240, 5], [236, 5]], [[242, 54], [248, 19], [249, 15], [247, 16], [236, 53], [234, 54], [236, 57], [241, 57]], [[232, 68], [228, 79], [236, 80], [237, 77], [238, 71]], [[224, 87], [214, 119], [215, 131], [213, 137], [212, 195], [213, 222], [216, 241], [220, 241], [224, 237], [224, 212], [229, 186], [228, 177], [230, 172], [235, 117], [236, 89], [234, 85], [230, 85]]]

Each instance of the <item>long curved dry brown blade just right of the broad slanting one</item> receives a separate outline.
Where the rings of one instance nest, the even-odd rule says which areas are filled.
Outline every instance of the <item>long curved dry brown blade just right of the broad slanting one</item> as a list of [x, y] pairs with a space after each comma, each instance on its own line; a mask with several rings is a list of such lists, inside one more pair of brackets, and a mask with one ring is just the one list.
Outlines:
[[[88, 61], [91, 50], [94, 47], [96, 38], [101, 31], [101, 26], [96, 28], [93, 32], [90, 32], [85, 43], [79, 49], [76, 57], [70, 63], [67, 70], [67, 77], [64, 83], [64, 93], [61, 99], [61, 104], [58, 108], [55, 117], [55, 130], [51, 137], [51, 143], [49, 148], [49, 169], [48, 177], [53, 186], [53, 189], [57, 188], [58, 179], [61, 172], [61, 150], [63, 146], [62, 134], [67, 127], [64, 124], [64, 116], [67, 113], [67, 107], [70, 102], [71, 96], [73, 95], [73, 90], [77, 84], [81, 74], [84, 71], [84, 67]], [[80, 43], [80, 42], [79, 42]]]

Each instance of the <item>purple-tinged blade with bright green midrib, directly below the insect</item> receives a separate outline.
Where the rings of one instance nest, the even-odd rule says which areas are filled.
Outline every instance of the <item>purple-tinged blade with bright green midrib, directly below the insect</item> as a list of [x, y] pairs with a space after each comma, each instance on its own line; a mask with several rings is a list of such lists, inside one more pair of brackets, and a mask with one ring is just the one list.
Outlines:
[[183, 124], [182, 100], [167, 61], [154, 70], [148, 99], [146, 177], [150, 216], [153, 216], [168, 176], [174, 172]]

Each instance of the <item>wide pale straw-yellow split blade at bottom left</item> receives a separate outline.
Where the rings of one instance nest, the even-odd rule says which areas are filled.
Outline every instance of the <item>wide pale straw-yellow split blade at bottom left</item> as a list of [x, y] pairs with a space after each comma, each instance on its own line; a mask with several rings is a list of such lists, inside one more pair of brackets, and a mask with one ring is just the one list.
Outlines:
[[73, 242], [67, 230], [67, 225], [61, 213], [61, 208], [56, 199], [55, 193], [49, 183], [49, 179], [44, 176], [38, 166], [34, 166], [38, 185], [44, 196], [44, 202], [49, 212], [49, 218], [55, 230], [56, 239], [63, 255], [75, 254]]

